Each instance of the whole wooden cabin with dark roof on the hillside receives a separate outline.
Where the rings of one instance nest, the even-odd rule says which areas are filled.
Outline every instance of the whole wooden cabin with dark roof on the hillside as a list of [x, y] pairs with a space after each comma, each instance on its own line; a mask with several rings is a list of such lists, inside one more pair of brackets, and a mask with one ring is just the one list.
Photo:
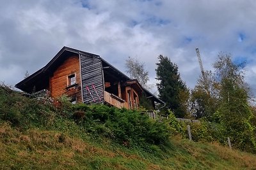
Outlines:
[[136, 109], [140, 97], [150, 99], [152, 107], [163, 101], [131, 80], [99, 55], [64, 46], [42, 69], [15, 85], [32, 93], [49, 97], [66, 94], [75, 103], [105, 103], [116, 108]]

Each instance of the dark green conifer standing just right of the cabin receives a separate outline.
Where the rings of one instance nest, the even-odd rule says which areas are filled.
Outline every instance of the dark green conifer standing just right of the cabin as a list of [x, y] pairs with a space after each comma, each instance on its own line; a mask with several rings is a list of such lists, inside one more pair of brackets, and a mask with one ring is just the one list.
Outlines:
[[188, 89], [180, 79], [178, 66], [163, 55], [159, 55], [158, 59], [156, 80], [159, 80], [159, 98], [166, 103], [166, 108], [173, 111], [175, 117], [184, 117], [187, 113], [184, 102], [188, 99]]

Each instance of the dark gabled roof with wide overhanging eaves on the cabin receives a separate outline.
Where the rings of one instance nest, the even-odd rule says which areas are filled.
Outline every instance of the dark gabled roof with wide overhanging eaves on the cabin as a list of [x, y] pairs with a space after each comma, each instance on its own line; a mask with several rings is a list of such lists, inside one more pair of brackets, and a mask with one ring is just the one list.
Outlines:
[[[37, 88], [36, 91], [45, 89], [45, 87], [44, 87], [45, 82], [49, 83], [49, 76], [54, 72], [56, 67], [60, 66], [61, 62], [63, 62], [65, 59], [67, 59], [67, 57], [69, 57], [70, 55], [76, 55], [76, 54], [77, 55], [79, 55], [79, 54], [86, 55], [88, 57], [97, 57], [98, 59], [100, 59], [102, 61], [103, 68], [111, 69], [111, 71], [113, 71], [113, 73], [118, 74], [118, 76], [120, 76], [120, 78], [122, 78], [123, 80], [132, 81], [131, 78], [129, 78], [127, 75], [125, 75], [124, 73], [122, 73], [121, 71], [116, 69], [116, 67], [109, 64], [109, 62], [107, 62], [106, 60], [102, 59], [99, 55], [93, 54], [93, 53], [88, 53], [88, 52], [83, 52], [80, 50], [76, 50], [74, 48], [63, 46], [63, 48], [61, 48], [60, 52], [58, 52], [53, 57], [53, 59], [48, 64], [46, 64], [46, 66], [42, 67], [42, 69], [39, 69], [35, 73], [31, 74], [30, 76], [28, 76], [28, 78], [25, 78], [24, 80], [17, 83], [15, 85], [15, 87], [17, 87], [20, 90], [23, 90], [24, 92], [28, 92], [28, 93], [33, 92], [33, 88], [34, 88], [33, 86], [35, 86], [35, 85]], [[44, 82], [44, 83], [42, 83], [42, 82]], [[140, 85], [140, 83], [139, 83], [139, 85]], [[141, 88], [143, 90], [145, 90], [145, 92], [147, 93], [148, 96], [152, 96], [154, 98], [154, 101], [156, 101], [157, 103], [164, 104], [163, 101], [158, 99], [147, 89], [145, 89], [143, 87], [141, 87]]]

